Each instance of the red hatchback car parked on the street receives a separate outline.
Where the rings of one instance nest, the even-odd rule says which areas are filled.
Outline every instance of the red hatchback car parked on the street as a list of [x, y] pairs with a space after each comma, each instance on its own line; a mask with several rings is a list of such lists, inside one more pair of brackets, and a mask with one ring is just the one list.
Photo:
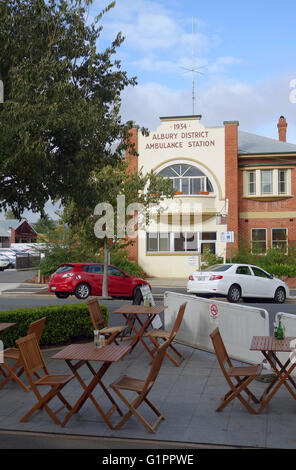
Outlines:
[[[75, 295], [86, 299], [89, 295], [102, 295], [104, 265], [101, 263], [65, 263], [52, 274], [49, 290], [59, 299]], [[150, 284], [131, 276], [116, 266], [108, 266], [108, 294], [110, 297], [141, 300], [140, 287]]]

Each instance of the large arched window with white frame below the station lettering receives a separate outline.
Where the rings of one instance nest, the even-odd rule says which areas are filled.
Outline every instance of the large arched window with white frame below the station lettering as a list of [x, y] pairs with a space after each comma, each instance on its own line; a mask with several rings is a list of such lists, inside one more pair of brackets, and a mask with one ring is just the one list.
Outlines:
[[171, 165], [160, 171], [159, 174], [171, 179], [176, 192], [190, 195], [201, 192], [214, 192], [209, 178], [198, 168], [191, 165]]

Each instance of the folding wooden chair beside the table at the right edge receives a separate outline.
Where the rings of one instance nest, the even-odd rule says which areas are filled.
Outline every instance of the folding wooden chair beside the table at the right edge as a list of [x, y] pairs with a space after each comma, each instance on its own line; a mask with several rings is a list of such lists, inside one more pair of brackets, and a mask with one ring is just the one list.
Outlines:
[[[253, 395], [253, 393], [248, 389], [248, 385], [261, 374], [262, 364], [254, 366], [233, 367], [232, 362], [225, 349], [219, 329], [216, 328], [210, 334], [210, 337], [221, 370], [224, 374], [227, 383], [230, 386], [229, 392], [224, 395], [216, 411], [222, 411], [227, 405], [229, 405], [229, 403], [234, 398], [238, 398], [250, 413], [257, 414], [257, 411], [251, 406], [249, 402], [250, 400], [252, 400], [256, 404], [259, 404], [260, 402], [255, 397], [255, 395]], [[235, 379], [237, 383], [234, 383], [233, 379]], [[244, 397], [242, 397], [242, 392], [245, 392], [248, 395], [248, 401]]]

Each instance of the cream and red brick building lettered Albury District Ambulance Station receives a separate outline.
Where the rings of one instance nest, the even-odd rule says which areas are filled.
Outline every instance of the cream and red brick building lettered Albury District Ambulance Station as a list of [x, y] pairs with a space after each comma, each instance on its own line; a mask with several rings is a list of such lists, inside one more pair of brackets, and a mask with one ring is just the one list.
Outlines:
[[277, 139], [241, 131], [237, 121], [206, 128], [201, 116], [160, 120], [148, 137], [132, 129], [139, 157], [126, 158], [130, 171], [170, 178], [176, 196], [139, 230], [131, 259], [151, 276], [182, 277], [206, 248], [225, 257], [225, 232], [234, 232], [234, 250], [243, 241], [261, 253], [296, 242], [296, 145], [286, 142], [283, 116]]

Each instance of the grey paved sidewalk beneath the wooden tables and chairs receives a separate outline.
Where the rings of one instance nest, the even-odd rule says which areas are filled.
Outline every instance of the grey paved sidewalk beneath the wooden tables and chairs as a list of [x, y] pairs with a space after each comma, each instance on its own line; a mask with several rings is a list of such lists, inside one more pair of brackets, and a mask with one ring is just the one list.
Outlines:
[[[154, 448], [154, 443], [155, 448], [167, 448], [172, 443], [176, 443], [176, 446], [296, 448], [296, 402], [285, 387], [281, 387], [261, 415], [249, 414], [239, 400], [234, 400], [223, 412], [217, 413], [215, 410], [220, 398], [228, 391], [228, 387], [215, 355], [184, 345], [178, 347], [186, 360], [180, 367], [175, 367], [165, 358], [158, 380], [149, 395], [165, 416], [155, 434], [146, 431], [135, 417], [119, 431], [109, 429], [90, 400], [65, 428], [54, 424], [45, 411], [35, 413], [26, 423], [20, 423], [21, 417], [36, 400], [32, 392], [24, 392], [12, 381], [0, 391], [0, 431], [54, 433], [56, 437], [60, 435], [65, 439], [64, 442], [68, 442], [67, 437], [70, 436], [123, 439], [122, 448], [126, 439], [137, 440], [138, 446], [142, 442], [143, 447], [149, 441], [150, 448]], [[68, 373], [64, 361], [51, 359], [55, 352], [53, 349], [44, 351], [49, 371]], [[108, 386], [121, 374], [145, 378], [150, 363], [146, 350], [142, 345], [137, 345], [132, 354], [110, 367], [103, 381]], [[91, 374], [86, 367], [80, 371], [85, 379], [90, 379]], [[251, 389], [260, 396], [266, 386], [262, 381], [254, 381]], [[74, 404], [81, 391], [80, 384], [73, 380], [65, 387], [64, 394]], [[100, 387], [93, 394], [105, 409], [109, 409], [108, 400]], [[119, 399], [118, 404], [122, 405]], [[124, 405], [122, 410], [125, 410]], [[146, 419], [153, 418], [150, 408], [145, 405], [141, 411]], [[63, 413], [64, 410], [61, 417]], [[111, 421], [115, 424], [118, 419], [119, 416], [113, 414]]]

